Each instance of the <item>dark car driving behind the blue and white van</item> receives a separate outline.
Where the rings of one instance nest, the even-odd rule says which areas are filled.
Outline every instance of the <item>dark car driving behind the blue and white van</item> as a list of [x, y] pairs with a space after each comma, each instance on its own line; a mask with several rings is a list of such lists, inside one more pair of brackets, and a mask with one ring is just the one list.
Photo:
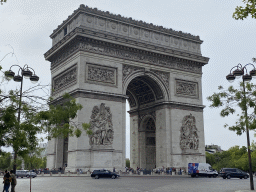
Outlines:
[[222, 168], [220, 170], [220, 174], [219, 174], [220, 177], [223, 177], [223, 179], [230, 179], [230, 178], [244, 178], [244, 179], [247, 179], [249, 178], [249, 174], [240, 170], [240, 169], [237, 169], [237, 168]]

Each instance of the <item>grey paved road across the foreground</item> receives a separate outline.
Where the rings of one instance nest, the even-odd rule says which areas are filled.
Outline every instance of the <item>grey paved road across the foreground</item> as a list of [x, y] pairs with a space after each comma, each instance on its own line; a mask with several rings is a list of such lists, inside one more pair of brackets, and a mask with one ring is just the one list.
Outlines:
[[[18, 178], [17, 192], [29, 191], [29, 179]], [[126, 176], [118, 179], [38, 176], [32, 179], [35, 192], [235, 192], [249, 191], [249, 179], [191, 178], [189, 176]]]

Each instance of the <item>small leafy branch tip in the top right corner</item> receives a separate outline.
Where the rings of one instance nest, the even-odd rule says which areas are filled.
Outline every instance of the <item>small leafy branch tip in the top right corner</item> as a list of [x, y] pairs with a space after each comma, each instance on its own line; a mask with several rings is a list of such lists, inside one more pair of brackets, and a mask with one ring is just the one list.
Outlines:
[[252, 16], [252, 18], [256, 18], [256, 0], [243, 0], [245, 6], [237, 6], [235, 9], [235, 12], [233, 13], [233, 18], [238, 19], [245, 19], [249, 15]]

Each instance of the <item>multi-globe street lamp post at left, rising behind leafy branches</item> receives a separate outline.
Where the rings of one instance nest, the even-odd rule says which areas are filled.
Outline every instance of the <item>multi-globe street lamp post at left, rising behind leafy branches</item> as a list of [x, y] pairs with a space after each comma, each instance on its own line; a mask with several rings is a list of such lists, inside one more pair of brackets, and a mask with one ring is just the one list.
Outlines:
[[[15, 75], [15, 73], [11, 70], [12, 67], [18, 67], [17, 75]], [[23, 77], [26, 79], [30, 79], [32, 83], [37, 83], [39, 80], [39, 77], [35, 74], [34, 69], [29, 67], [27, 64], [25, 64], [23, 68], [20, 67], [19, 65], [12, 65], [9, 71], [5, 72], [5, 76], [8, 78], [12, 78], [15, 82], [20, 82], [20, 98], [19, 98], [19, 108], [18, 108], [18, 126], [20, 126], [20, 110], [21, 110]], [[18, 129], [16, 129], [16, 131], [17, 130]], [[14, 150], [14, 164], [13, 164], [14, 174], [16, 174], [16, 167], [17, 167], [16, 159], [17, 159], [17, 151]]]

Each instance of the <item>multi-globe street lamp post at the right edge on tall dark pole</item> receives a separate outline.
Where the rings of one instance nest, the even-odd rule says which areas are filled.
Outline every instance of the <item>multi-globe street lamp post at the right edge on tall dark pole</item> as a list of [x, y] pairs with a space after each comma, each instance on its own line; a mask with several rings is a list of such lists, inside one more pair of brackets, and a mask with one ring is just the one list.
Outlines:
[[[248, 74], [247, 66], [253, 66], [253, 70]], [[235, 70], [233, 70], [236, 68]], [[231, 73], [233, 70], [233, 73]], [[248, 150], [248, 160], [249, 160], [249, 174], [250, 174], [250, 187], [251, 190], [254, 190], [253, 184], [253, 175], [252, 175], [252, 162], [251, 162], [251, 150], [250, 150], [250, 137], [249, 137], [249, 129], [248, 129], [248, 114], [247, 114], [247, 102], [246, 102], [246, 93], [245, 93], [245, 82], [251, 81], [252, 77], [256, 76], [255, 66], [251, 63], [242, 66], [238, 64], [237, 66], [231, 68], [230, 74], [226, 76], [226, 79], [229, 82], [234, 82], [235, 78], [239, 78], [242, 76], [243, 79], [243, 99], [245, 101], [245, 127], [246, 127], [246, 136], [247, 136], [247, 150]]]

